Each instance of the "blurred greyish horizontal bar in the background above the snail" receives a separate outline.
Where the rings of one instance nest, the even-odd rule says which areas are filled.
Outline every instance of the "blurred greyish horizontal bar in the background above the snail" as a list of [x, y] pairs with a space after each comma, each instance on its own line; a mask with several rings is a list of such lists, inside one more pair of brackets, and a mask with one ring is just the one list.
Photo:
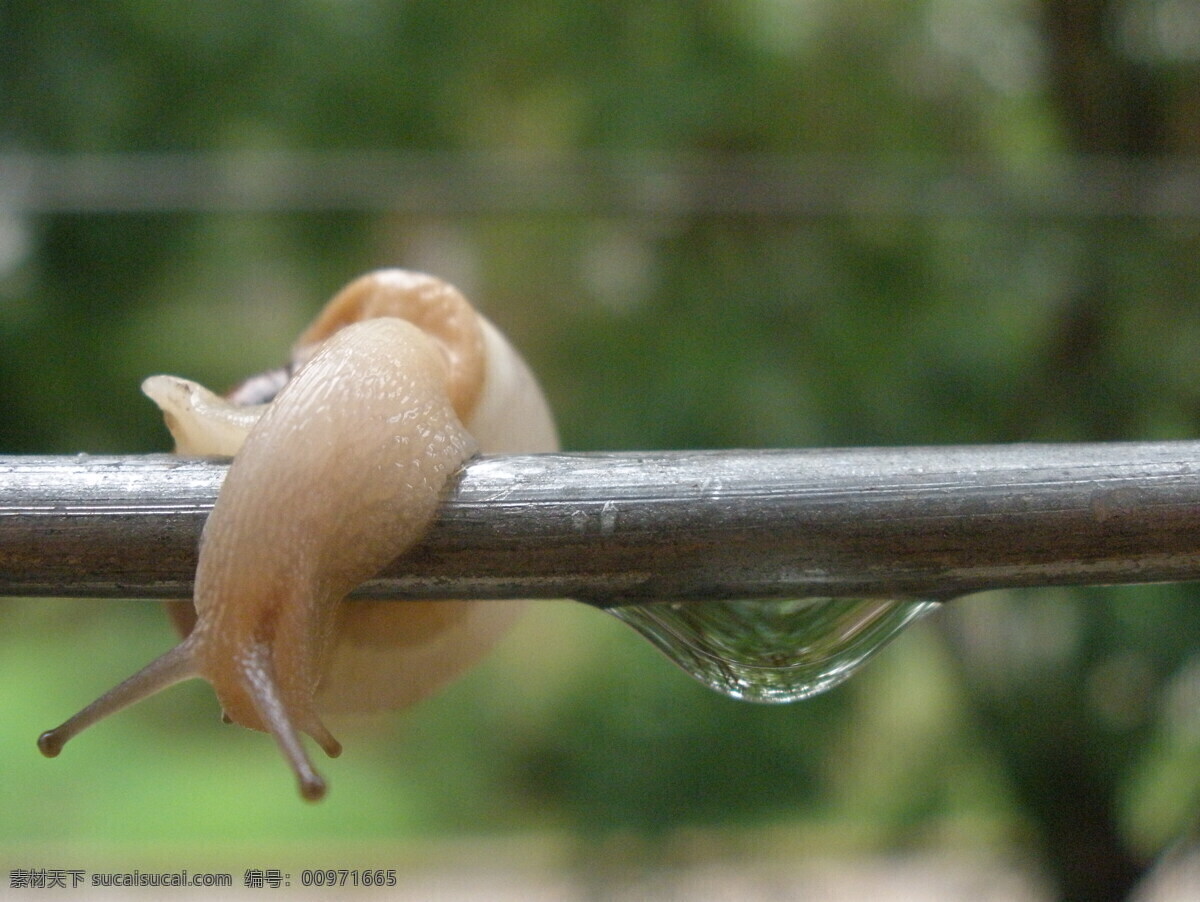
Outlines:
[[421, 152], [0, 154], [0, 211], [1200, 216], [1200, 160]]

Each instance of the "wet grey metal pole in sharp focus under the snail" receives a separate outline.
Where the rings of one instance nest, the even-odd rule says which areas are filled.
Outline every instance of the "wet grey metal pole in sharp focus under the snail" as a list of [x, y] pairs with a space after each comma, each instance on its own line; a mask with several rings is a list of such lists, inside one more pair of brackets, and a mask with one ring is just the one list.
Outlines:
[[[227, 462], [0, 457], [0, 595], [191, 595]], [[356, 595], [950, 599], [1200, 579], [1200, 441], [472, 461]]]

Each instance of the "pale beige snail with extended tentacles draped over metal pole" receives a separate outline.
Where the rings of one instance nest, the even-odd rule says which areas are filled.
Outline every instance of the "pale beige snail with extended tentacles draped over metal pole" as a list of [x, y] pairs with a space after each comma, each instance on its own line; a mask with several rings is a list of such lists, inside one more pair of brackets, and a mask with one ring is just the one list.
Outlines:
[[223, 717], [270, 733], [300, 794], [325, 782], [301, 734], [341, 751], [322, 714], [407, 706], [496, 642], [521, 602], [346, 601], [414, 545], [448, 480], [476, 451], [557, 449], [538, 383], [449, 284], [379, 270], [343, 288], [300, 336], [292, 366], [221, 398], [157, 375], [176, 453], [232, 455], [200, 539], [184, 638], [38, 738], [80, 730], [186, 679]]

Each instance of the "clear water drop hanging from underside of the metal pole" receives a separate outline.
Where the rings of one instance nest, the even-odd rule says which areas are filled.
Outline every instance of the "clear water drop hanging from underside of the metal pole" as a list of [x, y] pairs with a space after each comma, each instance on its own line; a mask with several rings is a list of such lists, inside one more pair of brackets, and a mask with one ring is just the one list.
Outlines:
[[913, 599], [656, 602], [608, 608], [706, 686], [746, 702], [833, 688], [936, 608]]

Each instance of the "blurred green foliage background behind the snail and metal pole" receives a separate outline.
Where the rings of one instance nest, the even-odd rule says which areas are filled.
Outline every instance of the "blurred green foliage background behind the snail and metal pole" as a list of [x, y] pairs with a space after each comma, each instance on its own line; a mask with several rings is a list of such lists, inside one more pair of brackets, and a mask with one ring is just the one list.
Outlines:
[[[570, 449], [1192, 438], [1198, 151], [1193, 0], [0, 0], [0, 452], [166, 450], [144, 375], [275, 366], [380, 265], [460, 284]], [[320, 806], [202, 684], [41, 759], [174, 639], [140, 602], [0, 624], [5, 867], [606, 897], [928, 853], [1116, 900], [1200, 810], [1188, 585], [976, 596], [787, 708], [539, 603], [343, 735]]]

